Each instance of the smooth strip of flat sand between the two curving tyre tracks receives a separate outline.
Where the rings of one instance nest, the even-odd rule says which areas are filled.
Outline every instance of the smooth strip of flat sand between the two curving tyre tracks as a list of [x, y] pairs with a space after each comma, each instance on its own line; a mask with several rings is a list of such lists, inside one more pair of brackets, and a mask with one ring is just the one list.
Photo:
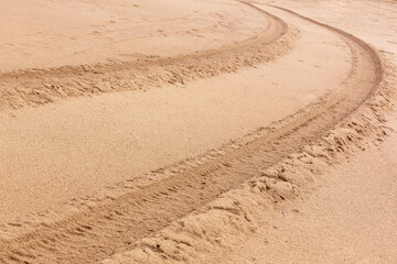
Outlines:
[[[315, 26], [301, 34], [294, 52], [256, 69], [2, 116], [0, 168], [13, 176], [0, 179], [0, 222], [195, 157], [337, 90], [348, 47]], [[293, 85], [291, 72], [318, 79]]]

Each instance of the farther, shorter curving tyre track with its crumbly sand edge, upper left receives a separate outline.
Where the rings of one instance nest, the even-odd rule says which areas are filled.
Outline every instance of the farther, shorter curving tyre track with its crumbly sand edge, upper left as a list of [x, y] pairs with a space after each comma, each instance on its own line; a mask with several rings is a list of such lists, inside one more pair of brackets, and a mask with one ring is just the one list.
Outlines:
[[297, 32], [278, 18], [262, 14], [269, 21], [264, 32], [218, 50], [142, 62], [0, 73], [0, 110], [34, 107], [68, 97], [184, 84], [276, 59], [292, 48]]

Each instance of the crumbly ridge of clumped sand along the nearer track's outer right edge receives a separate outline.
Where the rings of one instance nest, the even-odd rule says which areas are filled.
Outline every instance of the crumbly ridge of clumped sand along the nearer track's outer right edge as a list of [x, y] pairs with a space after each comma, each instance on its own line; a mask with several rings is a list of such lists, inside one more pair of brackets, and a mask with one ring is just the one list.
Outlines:
[[[377, 56], [376, 51], [364, 42], [329, 25], [324, 26], [355, 40]], [[154, 237], [142, 239], [133, 250], [116, 254], [103, 263], [219, 263], [230, 260], [229, 252], [238, 249], [238, 244], [266, 222], [264, 213], [279, 202], [300, 197], [301, 191], [310, 189], [312, 182], [321, 177], [320, 174], [329, 170], [330, 164], [346, 160], [352, 153], [364, 150], [368, 143], [383, 141], [390, 132], [385, 114], [391, 110], [390, 101], [396, 99], [394, 86], [397, 76], [391, 64], [385, 65], [384, 69], [384, 78], [375, 82], [374, 94], [369, 94], [357, 110], [324, 136], [239, 188], [223, 194], [201, 212], [174, 221]], [[253, 263], [255, 260], [240, 261]]]

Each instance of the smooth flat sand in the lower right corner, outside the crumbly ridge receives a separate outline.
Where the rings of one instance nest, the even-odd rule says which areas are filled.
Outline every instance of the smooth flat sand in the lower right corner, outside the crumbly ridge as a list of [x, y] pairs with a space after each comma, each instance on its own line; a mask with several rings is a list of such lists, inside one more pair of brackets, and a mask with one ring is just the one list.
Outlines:
[[393, 134], [339, 164], [303, 201], [266, 216], [224, 263], [395, 263], [396, 150]]

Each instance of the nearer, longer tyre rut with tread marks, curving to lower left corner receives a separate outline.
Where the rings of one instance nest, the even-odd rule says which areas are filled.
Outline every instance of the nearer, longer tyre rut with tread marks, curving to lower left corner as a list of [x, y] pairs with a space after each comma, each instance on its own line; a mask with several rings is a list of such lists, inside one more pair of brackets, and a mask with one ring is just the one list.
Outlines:
[[[282, 11], [281, 15], [296, 14]], [[103, 205], [42, 224], [25, 235], [4, 239], [0, 261], [95, 263], [127, 251], [135, 241], [198, 209], [249, 179], [255, 172], [271, 166], [334, 128], [378, 87], [382, 62], [376, 52], [358, 38], [311, 22], [333, 31], [351, 47], [353, 69], [344, 89], [272, 128], [258, 131], [254, 141], [240, 143], [206, 164], [170, 175], [140, 190], [111, 197]]]

